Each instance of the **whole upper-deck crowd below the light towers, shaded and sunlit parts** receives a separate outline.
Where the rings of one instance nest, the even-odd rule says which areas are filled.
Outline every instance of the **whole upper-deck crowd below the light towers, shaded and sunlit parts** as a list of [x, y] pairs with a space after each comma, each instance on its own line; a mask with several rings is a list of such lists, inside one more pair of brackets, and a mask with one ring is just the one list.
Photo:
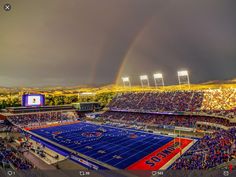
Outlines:
[[200, 112], [235, 118], [236, 89], [123, 93], [111, 101], [109, 108], [139, 112]]

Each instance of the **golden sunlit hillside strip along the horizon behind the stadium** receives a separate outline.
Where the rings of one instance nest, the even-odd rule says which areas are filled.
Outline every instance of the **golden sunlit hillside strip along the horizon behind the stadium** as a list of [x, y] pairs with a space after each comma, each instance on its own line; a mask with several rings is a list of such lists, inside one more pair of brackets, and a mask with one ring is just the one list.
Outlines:
[[[201, 84], [191, 84], [188, 86], [180, 86], [180, 85], [169, 85], [165, 87], [159, 87], [159, 90], [201, 90], [201, 89], [217, 89], [217, 88], [236, 88], [236, 79], [226, 80], [226, 81], [209, 81]], [[70, 87], [27, 87], [27, 88], [11, 88], [11, 87], [0, 87], [1, 94], [16, 94], [16, 93], [45, 93], [45, 94], [77, 94], [82, 92], [93, 92], [93, 93], [101, 93], [101, 92], [119, 92], [119, 91], [141, 91], [141, 90], [153, 90], [155, 87], [146, 87], [142, 88], [141, 86], [132, 86], [132, 88], [124, 88], [123, 86], [117, 85], [107, 85], [102, 87], [87, 87], [87, 86], [70, 86]]]

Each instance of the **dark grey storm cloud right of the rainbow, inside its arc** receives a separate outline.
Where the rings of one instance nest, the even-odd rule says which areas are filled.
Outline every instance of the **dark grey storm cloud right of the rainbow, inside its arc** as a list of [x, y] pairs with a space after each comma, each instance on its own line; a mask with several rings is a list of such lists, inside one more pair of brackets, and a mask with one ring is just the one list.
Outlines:
[[188, 69], [191, 81], [236, 76], [236, 21], [233, 1], [175, 1], [150, 21], [127, 55], [121, 75], [161, 71], [168, 84], [177, 70]]

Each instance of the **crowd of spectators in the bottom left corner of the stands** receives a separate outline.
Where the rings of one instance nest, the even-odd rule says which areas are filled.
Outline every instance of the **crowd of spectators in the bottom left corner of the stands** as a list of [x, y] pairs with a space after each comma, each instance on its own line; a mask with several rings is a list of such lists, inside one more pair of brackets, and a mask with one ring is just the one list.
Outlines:
[[15, 169], [27, 170], [32, 169], [33, 165], [28, 162], [23, 155], [7, 146], [7, 140], [0, 137], [0, 162], [2, 167], [13, 166]]

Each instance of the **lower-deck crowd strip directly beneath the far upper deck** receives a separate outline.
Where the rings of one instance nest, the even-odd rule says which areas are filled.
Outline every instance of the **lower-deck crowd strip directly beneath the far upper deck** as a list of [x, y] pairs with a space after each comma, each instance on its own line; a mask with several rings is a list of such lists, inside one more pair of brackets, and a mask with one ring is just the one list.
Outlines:
[[126, 123], [143, 123], [147, 125], [171, 125], [180, 127], [196, 127], [198, 122], [207, 122], [223, 126], [235, 126], [230, 123], [228, 119], [222, 119], [217, 117], [208, 116], [180, 116], [180, 115], [163, 115], [163, 114], [151, 114], [151, 113], [132, 113], [132, 112], [116, 112], [107, 111], [102, 117], [105, 120], [119, 120]]

